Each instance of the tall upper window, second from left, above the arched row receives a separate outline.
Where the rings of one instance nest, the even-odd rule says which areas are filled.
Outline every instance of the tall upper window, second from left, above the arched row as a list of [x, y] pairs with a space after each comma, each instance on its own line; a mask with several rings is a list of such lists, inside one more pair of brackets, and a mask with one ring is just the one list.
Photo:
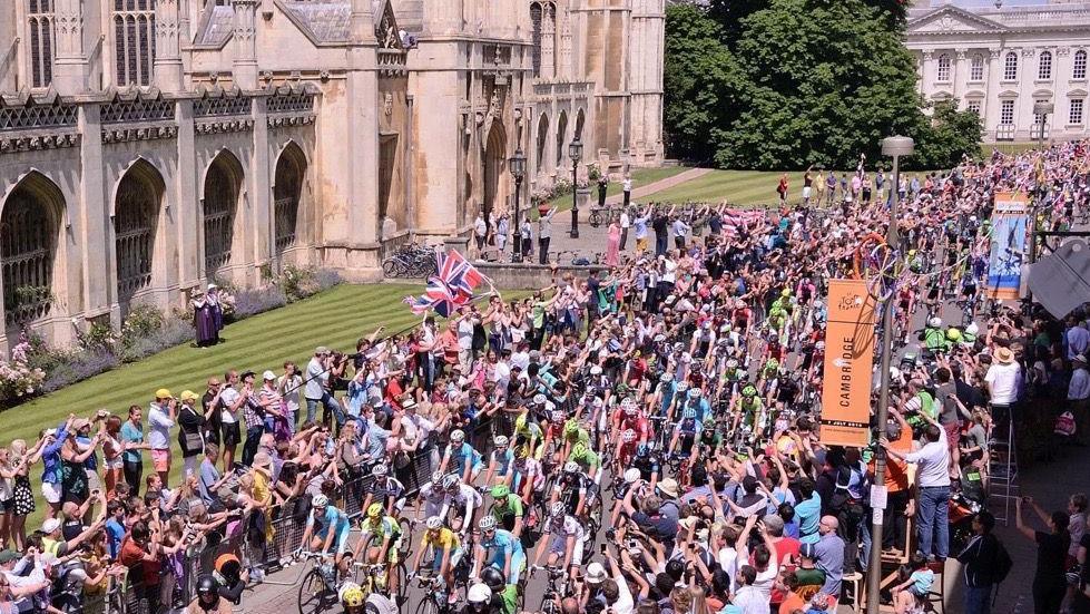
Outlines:
[[151, 85], [155, 1], [114, 0], [114, 59], [119, 86]]

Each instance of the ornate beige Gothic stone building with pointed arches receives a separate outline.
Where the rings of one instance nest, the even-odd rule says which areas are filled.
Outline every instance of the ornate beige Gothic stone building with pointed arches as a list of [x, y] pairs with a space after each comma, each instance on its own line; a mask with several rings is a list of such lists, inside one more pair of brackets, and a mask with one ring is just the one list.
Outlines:
[[0, 347], [662, 157], [664, 0], [0, 2]]

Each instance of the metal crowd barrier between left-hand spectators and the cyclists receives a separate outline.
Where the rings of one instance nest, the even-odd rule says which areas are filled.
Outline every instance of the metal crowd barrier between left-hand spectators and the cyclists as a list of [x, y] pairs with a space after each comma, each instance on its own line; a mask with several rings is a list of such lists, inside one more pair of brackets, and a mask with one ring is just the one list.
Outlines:
[[[487, 457], [494, 449], [492, 441], [495, 436], [511, 436], [514, 432], [517, 416], [518, 412], [498, 411], [469, 433], [473, 448], [485, 456], [485, 465]], [[432, 439], [418, 449], [404, 466], [397, 467], [396, 461], [394, 462], [394, 475], [405, 485], [407, 496], [414, 496], [420, 487], [431, 479], [432, 472], [438, 468], [436, 464], [441, 460], [442, 451], [433, 433]], [[342, 486], [337, 504], [350, 518], [357, 518], [363, 514], [363, 503], [372, 479], [371, 476], [363, 476], [348, 480]], [[310, 497], [288, 499], [267, 513], [252, 513], [219, 544], [187, 553], [181, 565], [181, 576], [175, 578], [174, 603], [181, 604], [184, 607], [193, 601], [196, 596], [197, 578], [202, 574], [210, 574], [215, 568], [216, 559], [225, 553], [234, 554], [251, 569], [256, 568], [262, 572], [278, 569], [292, 553], [303, 545], [303, 532], [306, 528], [306, 516], [310, 510]], [[266, 523], [267, 527], [265, 527]], [[154, 597], [149, 600], [147, 593], [148, 588], [139, 582], [122, 586], [126, 614], [156, 614], [149, 605], [154, 602]], [[161, 604], [160, 607], [169, 607], [169, 604]]]

